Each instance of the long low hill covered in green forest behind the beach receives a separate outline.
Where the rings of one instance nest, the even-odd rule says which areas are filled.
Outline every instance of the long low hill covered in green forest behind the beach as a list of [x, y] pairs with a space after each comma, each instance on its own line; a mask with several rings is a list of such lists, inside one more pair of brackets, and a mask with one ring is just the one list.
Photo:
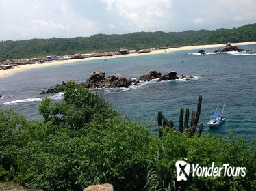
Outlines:
[[31, 39], [0, 42], [0, 60], [42, 57], [45, 55], [68, 55], [110, 51], [120, 48], [140, 49], [162, 46], [188, 46], [196, 44], [219, 44], [227, 42], [256, 41], [256, 23], [233, 29], [184, 32], [138, 32], [123, 35], [97, 34], [90, 37]]

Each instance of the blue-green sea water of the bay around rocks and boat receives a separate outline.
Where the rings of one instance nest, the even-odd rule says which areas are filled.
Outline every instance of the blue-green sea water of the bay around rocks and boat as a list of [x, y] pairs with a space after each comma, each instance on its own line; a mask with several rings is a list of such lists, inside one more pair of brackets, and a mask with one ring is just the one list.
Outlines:
[[[203, 96], [199, 122], [204, 123], [203, 132], [227, 137], [246, 135], [255, 139], [256, 125], [256, 45], [239, 46], [246, 53], [212, 53], [218, 48], [205, 49], [207, 55], [197, 50], [183, 50], [174, 53], [119, 57], [107, 60], [79, 61], [64, 65], [27, 70], [0, 78], [0, 109], [15, 108], [27, 119], [42, 119], [38, 104], [44, 96], [61, 100], [61, 94], [40, 95], [42, 89], [75, 80], [86, 80], [90, 73], [103, 70], [106, 76], [121, 74], [127, 78], [138, 78], [150, 70], [162, 74], [176, 71], [178, 74], [194, 76], [191, 80], [170, 80], [165, 82], [143, 82], [129, 88], [94, 89], [103, 95], [129, 120], [146, 123], [151, 132], [157, 134], [157, 111], [172, 119], [179, 127], [179, 109], [196, 110], [198, 96]], [[209, 128], [207, 121], [219, 104], [222, 111], [225, 104], [225, 123]]]

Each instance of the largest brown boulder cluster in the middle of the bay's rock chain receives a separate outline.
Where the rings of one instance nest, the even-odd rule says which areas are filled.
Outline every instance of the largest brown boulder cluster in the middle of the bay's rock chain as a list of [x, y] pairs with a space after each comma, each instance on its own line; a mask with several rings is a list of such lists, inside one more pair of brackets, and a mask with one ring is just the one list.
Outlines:
[[115, 74], [105, 78], [105, 72], [96, 71], [90, 74], [88, 80], [82, 83], [85, 88], [110, 88], [110, 87], [129, 87], [131, 80], [127, 80], [120, 74]]

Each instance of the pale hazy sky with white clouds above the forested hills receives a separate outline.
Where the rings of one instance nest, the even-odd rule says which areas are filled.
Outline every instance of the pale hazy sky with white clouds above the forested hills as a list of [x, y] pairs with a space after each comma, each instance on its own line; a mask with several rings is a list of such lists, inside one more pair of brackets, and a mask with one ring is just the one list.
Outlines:
[[232, 29], [252, 23], [256, 0], [0, 0], [0, 40]]

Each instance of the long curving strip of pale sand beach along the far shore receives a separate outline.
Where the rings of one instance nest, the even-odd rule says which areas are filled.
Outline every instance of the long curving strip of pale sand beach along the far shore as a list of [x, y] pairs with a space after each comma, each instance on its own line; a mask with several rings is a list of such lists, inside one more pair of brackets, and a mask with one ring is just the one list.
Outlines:
[[[256, 44], [256, 42], [240, 42], [240, 43], [231, 43], [233, 46], [244, 46], [244, 45], [253, 45]], [[84, 59], [70, 59], [70, 60], [57, 60], [57, 61], [51, 61], [46, 63], [34, 63], [34, 64], [27, 64], [27, 65], [21, 65], [18, 67], [14, 67], [13, 69], [8, 70], [0, 70], [0, 78], [11, 76], [12, 74], [16, 74], [18, 72], [23, 72], [26, 70], [31, 70], [34, 68], [46, 68], [51, 67], [54, 65], [64, 65], [66, 63], [75, 63], [79, 61], [91, 61], [91, 60], [101, 60], [101, 59], [114, 59], [119, 57], [138, 57], [142, 55], [155, 55], [155, 54], [161, 54], [161, 53], [172, 53], [182, 50], [196, 50], [196, 49], [205, 49], [205, 48], [219, 48], [223, 47], [225, 44], [207, 44], [207, 45], [196, 45], [196, 46], [181, 46], [177, 48], [168, 48], [168, 49], [159, 49], [159, 50], [153, 50], [150, 53], [131, 53], [128, 55], [116, 55], [116, 56], [103, 56], [103, 57], [90, 57], [90, 58], [84, 58]]]

